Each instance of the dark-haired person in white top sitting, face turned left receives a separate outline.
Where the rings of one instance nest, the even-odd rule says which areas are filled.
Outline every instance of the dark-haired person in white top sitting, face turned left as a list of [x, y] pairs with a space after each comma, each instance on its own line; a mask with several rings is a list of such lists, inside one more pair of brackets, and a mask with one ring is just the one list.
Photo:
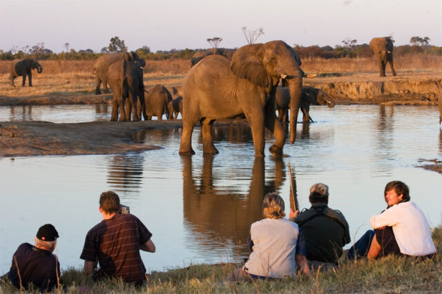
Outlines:
[[[387, 209], [370, 218], [370, 225], [374, 231], [367, 231], [363, 238], [347, 251], [347, 257], [361, 257], [365, 253], [369, 260], [390, 254], [432, 257], [436, 248], [430, 225], [421, 209], [410, 201], [407, 185], [398, 180], [387, 183], [384, 198]], [[363, 242], [367, 236], [373, 236], [371, 242]]]

